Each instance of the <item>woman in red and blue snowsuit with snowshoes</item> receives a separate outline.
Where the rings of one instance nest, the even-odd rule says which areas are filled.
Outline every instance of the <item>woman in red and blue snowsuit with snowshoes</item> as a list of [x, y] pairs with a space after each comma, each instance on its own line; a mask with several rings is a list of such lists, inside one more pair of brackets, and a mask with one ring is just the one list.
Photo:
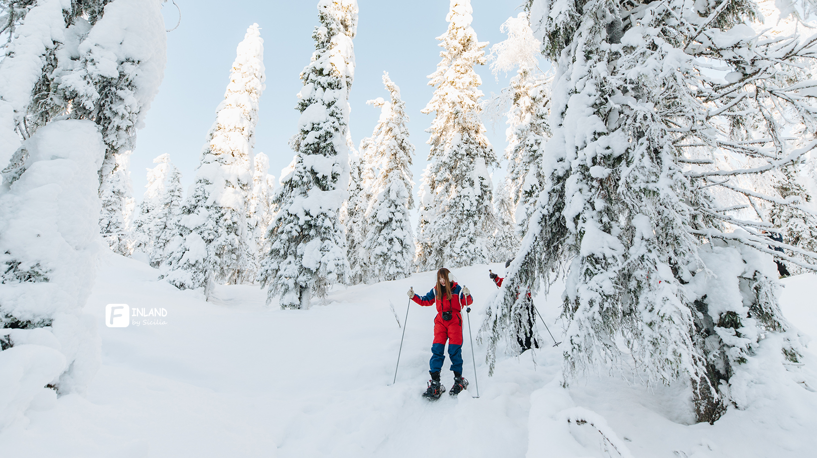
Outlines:
[[434, 319], [434, 343], [431, 344], [431, 380], [428, 381], [428, 390], [423, 396], [430, 399], [439, 399], [445, 392], [440, 385], [440, 371], [445, 361], [445, 341], [449, 341], [449, 359], [451, 370], [454, 372], [454, 383], [449, 394], [457, 395], [465, 390], [468, 381], [462, 378], [462, 309], [474, 302], [468, 288], [463, 288], [449, 278], [449, 270], [442, 268], [437, 271], [437, 284], [425, 296], [414, 293], [414, 288], [408, 290], [408, 297], [421, 306], [436, 306], [437, 316]]

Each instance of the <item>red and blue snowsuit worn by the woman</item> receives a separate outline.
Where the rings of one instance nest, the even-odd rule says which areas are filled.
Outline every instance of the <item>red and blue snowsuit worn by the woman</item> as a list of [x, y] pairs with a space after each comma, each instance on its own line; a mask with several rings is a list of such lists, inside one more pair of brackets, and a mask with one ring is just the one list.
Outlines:
[[[437, 306], [437, 316], [434, 319], [434, 342], [431, 344], [431, 372], [440, 372], [445, 361], [445, 341], [449, 341], [449, 359], [451, 370], [462, 373], [462, 313], [461, 310], [474, 303], [469, 294], [462, 294], [462, 286], [456, 282], [451, 284], [451, 300], [437, 296], [437, 288], [432, 288], [425, 296], [415, 294], [414, 302], [421, 306]], [[443, 319], [443, 312], [451, 311], [451, 319]]]

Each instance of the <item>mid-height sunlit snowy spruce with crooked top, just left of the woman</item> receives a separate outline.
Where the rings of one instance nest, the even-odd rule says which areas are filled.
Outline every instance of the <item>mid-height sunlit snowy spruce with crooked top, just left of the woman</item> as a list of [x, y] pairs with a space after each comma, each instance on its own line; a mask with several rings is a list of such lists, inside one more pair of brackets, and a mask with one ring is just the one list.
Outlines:
[[399, 280], [414, 270], [414, 238], [408, 210], [413, 209], [414, 182], [409, 167], [414, 145], [408, 140], [408, 116], [400, 88], [383, 73], [383, 84], [391, 101], [369, 100], [381, 108], [372, 137], [364, 140], [366, 157], [377, 164], [377, 178], [372, 184], [372, 203], [366, 213], [368, 237], [364, 253], [368, 253], [370, 282]]

